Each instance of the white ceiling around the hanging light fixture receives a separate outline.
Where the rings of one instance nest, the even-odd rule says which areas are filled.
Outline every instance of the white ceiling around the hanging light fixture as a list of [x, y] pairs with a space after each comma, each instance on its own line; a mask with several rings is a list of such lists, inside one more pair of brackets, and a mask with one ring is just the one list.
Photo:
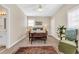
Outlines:
[[62, 4], [42, 4], [42, 11], [37, 11], [39, 4], [19, 4], [27, 16], [53, 16]]

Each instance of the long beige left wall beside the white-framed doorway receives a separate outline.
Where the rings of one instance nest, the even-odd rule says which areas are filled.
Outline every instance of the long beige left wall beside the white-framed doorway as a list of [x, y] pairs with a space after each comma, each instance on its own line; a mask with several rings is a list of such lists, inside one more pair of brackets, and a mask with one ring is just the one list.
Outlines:
[[25, 15], [16, 5], [8, 5], [10, 8], [10, 42], [12, 45], [19, 41], [25, 34], [26, 27], [24, 26]]

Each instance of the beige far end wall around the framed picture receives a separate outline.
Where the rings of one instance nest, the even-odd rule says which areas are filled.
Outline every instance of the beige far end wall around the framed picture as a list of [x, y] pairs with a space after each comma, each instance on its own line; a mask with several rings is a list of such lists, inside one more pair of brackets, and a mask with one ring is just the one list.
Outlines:
[[49, 16], [28, 16], [28, 20], [41, 21], [43, 25], [47, 25], [48, 34], [50, 34], [50, 17]]

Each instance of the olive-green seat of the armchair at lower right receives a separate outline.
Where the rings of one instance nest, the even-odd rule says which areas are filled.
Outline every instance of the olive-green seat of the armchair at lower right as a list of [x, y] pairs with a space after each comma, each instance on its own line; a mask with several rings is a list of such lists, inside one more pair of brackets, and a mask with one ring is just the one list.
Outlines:
[[[74, 44], [74, 43], [73, 43]], [[60, 52], [63, 52], [65, 54], [75, 54], [76, 53], [76, 47], [72, 45], [69, 41], [63, 41], [59, 42], [58, 49]]]

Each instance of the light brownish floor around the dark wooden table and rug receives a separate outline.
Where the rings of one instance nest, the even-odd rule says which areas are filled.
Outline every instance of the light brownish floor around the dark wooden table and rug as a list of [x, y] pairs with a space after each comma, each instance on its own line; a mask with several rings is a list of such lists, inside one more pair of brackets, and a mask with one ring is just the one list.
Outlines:
[[2, 52], [2, 54], [12, 54], [15, 53], [20, 47], [27, 47], [27, 46], [53, 46], [55, 48], [55, 50], [57, 52], [58, 51], [58, 40], [55, 39], [54, 37], [48, 36], [48, 39], [46, 41], [46, 44], [44, 43], [44, 41], [33, 41], [33, 43], [31, 44], [29, 42], [29, 38], [26, 37], [25, 39], [21, 40], [19, 43], [17, 43], [15, 46], [9, 48], [9, 49], [5, 49], [4, 52]]

